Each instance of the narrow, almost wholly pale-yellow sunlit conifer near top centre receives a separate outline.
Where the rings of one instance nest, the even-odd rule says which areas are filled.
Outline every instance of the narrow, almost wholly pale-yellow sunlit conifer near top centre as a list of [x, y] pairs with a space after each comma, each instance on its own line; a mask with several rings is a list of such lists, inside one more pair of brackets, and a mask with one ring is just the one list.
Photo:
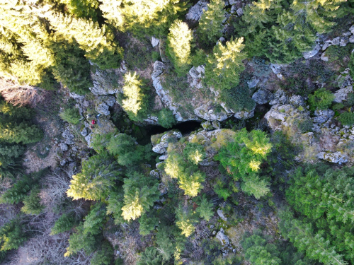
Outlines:
[[167, 37], [169, 56], [178, 76], [183, 76], [190, 67], [190, 44], [193, 40], [192, 30], [187, 23], [175, 20]]

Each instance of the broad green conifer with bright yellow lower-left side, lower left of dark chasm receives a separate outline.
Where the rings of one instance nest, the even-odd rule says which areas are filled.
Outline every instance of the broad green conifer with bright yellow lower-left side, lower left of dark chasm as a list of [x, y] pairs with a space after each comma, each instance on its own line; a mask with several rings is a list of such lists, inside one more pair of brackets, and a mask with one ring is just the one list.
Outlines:
[[104, 199], [119, 179], [118, 170], [118, 163], [108, 153], [94, 155], [82, 163], [81, 173], [72, 176], [67, 195], [75, 200]]

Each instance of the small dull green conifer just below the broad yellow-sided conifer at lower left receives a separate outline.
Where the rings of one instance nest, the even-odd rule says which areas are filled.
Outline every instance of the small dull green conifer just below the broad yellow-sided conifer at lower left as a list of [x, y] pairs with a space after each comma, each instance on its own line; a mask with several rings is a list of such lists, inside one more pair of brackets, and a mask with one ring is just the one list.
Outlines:
[[92, 235], [99, 234], [105, 223], [105, 204], [101, 202], [91, 206], [91, 211], [84, 220], [85, 234], [88, 234], [89, 232]]

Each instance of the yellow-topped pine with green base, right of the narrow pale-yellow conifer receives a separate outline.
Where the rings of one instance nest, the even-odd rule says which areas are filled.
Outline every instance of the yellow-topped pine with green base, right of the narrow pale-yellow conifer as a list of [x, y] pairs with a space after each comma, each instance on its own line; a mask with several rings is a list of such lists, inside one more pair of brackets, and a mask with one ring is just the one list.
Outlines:
[[219, 90], [230, 89], [239, 84], [239, 73], [244, 71], [242, 60], [246, 59], [244, 38], [230, 40], [226, 45], [220, 42], [213, 49], [213, 55], [205, 66], [205, 83]]

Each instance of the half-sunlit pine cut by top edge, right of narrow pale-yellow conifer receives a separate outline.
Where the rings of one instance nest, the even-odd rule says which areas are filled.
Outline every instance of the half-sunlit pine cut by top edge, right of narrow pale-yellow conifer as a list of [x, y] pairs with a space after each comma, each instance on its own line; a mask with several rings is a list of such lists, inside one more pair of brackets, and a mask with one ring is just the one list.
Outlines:
[[199, 20], [198, 37], [203, 43], [215, 43], [222, 36], [225, 18], [223, 0], [211, 0], [207, 10], [202, 13]]

